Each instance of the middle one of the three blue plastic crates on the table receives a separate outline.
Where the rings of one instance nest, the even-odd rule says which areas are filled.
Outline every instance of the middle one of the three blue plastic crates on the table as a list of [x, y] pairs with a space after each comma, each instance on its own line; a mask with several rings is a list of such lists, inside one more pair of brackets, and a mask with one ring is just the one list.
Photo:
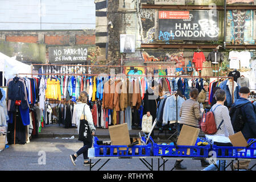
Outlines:
[[[174, 157], [193, 157], [193, 158], [207, 158], [210, 150], [210, 144], [207, 146], [197, 146], [199, 142], [206, 142], [200, 137], [197, 138], [195, 146], [177, 146], [153, 144], [154, 156], [174, 156]], [[190, 153], [188, 153], [188, 149]]]

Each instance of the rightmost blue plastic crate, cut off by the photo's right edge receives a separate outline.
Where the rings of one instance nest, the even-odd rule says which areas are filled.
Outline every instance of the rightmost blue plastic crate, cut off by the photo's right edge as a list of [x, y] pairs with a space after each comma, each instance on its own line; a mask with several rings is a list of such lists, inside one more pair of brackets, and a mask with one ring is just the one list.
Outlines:
[[[247, 143], [256, 141], [256, 139], [249, 139]], [[250, 158], [256, 159], [256, 143], [251, 144], [250, 147], [228, 147], [212, 145], [212, 150], [215, 152], [216, 158]]]

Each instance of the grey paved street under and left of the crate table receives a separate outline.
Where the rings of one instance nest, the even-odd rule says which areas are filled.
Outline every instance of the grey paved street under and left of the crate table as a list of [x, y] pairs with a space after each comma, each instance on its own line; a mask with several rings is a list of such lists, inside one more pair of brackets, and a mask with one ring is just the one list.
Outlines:
[[[73, 166], [69, 155], [73, 154], [82, 146], [82, 142], [75, 139], [61, 139], [61, 138], [38, 138], [32, 139], [30, 143], [25, 145], [16, 144], [11, 145], [8, 149], [0, 152], [0, 171], [2, 170], [52, 170], [52, 171], [89, 171], [89, 166], [82, 165], [82, 155], [77, 160], [76, 167]], [[42, 156], [46, 155], [46, 164], [41, 160]], [[98, 169], [100, 164], [106, 160], [101, 160], [93, 170]], [[160, 160], [161, 161], [161, 160]], [[229, 162], [230, 160], [228, 160]], [[149, 160], [148, 160], [149, 162]], [[175, 163], [175, 159], [171, 159], [166, 163], [166, 170], [170, 170]], [[184, 160], [184, 166], [189, 171], [200, 171], [203, 169], [200, 160]], [[250, 166], [255, 164], [251, 162]], [[154, 171], [158, 168], [158, 160], [154, 159]], [[138, 159], [112, 159], [101, 171], [148, 171], [144, 164]], [[161, 168], [162, 170], [162, 168]], [[230, 168], [227, 169], [230, 171]]]

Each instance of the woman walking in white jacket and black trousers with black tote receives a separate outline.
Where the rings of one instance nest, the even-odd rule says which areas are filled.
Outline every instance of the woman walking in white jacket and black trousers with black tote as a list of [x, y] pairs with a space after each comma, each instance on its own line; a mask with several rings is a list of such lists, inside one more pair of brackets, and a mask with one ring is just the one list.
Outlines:
[[[84, 155], [84, 166], [90, 165], [88, 160], [88, 149], [92, 147], [92, 138], [95, 134], [95, 127], [93, 124], [92, 112], [90, 107], [86, 104], [88, 93], [82, 91], [77, 105], [74, 106], [73, 119], [77, 123], [77, 131], [79, 132], [79, 140], [84, 142], [84, 146], [80, 148], [75, 154], [70, 155], [71, 161], [76, 166], [76, 159], [79, 155]], [[73, 122], [72, 122], [73, 123]], [[91, 163], [93, 164], [93, 163]]]

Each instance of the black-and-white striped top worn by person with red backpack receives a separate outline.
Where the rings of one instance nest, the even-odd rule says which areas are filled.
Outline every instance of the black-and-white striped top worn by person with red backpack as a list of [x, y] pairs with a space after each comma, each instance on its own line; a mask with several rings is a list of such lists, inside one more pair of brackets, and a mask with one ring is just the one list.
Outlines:
[[[234, 130], [233, 130], [233, 126], [232, 126], [232, 123], [230, 120], [228, 107], [226, 107], [224, 105], [214, 104], [212, 106], [212, 110], [214, 110], [213, 113], [214, 113], [214, 119], [215, 119], [217, 128], [220, 125], [222, 119], [224, 120], [220, 129], [218, 129], [217, 133], [214, 135], [224, 136], [224, 137], [229, 137], [230, 135], [233, 135]], [[212, 136], [214, 136], [214, 135], [212, 135]]]

